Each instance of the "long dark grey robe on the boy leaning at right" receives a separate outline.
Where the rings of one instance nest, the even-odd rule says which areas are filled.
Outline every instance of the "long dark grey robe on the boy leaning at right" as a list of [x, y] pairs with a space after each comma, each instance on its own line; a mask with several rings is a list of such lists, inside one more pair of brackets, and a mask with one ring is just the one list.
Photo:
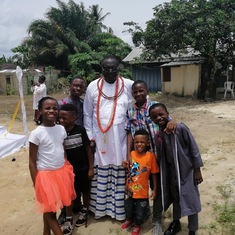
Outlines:
[[[194, 168], [203, 166], [197, 143], [188, 127], [178, 123], [176, 132], [167, 135], [159, 131], [155, 136], [158, 162], [161, 174], [162, 205], [164, 211], [172, 203], [170, 191], [169, 164], [165, 149], [171, 149], [176, 181], [179, 189], [181, 216], [193, 215], [201, 211], [201, 203], [197, 185], [194, 184]], [[168, 151], [169, 152], [169, 151]], [[172, 167], [171, 167], [172, 169]]]

